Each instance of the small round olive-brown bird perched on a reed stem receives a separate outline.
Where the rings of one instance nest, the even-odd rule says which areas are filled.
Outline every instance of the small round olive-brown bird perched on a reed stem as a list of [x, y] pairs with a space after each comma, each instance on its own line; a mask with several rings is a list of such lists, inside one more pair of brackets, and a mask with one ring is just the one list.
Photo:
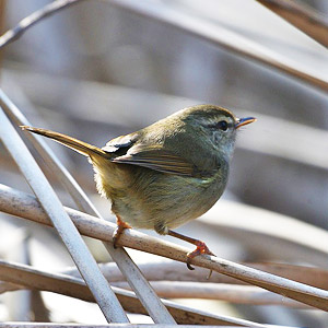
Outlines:
[[175, 229], [206, 213], [223, 194], [236, 131], [254, 117], [236, 118], [229, 109], [198, 105], [181, 109], [137, 132], [97, 148], [50, 130], [22, 126], [90, 159], [98, 192], [112, 201], [117, 218], [114, 245], [125, 229], [150, 229], [197, 246], [187, 266], [207, 245]]

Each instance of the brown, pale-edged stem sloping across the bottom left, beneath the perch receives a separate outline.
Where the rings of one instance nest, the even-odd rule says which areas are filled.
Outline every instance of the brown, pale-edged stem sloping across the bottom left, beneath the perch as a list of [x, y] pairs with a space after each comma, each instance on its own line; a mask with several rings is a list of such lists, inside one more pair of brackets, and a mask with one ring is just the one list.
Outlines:
[[[0, 260], [0, 279], [23, 285], [28, 289], [49, 291], [67, 296], [72, 296], [87, 302], [94, 302], [82, 279], [74, 277], [50, 273], [30, 266]], [[142, 304], [130, 291], [119, 288], [113, 289], [126, 311], [137, 314], [145, 314]], [[194, 309], [178, 305], [174, 302], [162, 300], [169, 313], [179, 324], [192, 325], [245, 325], [251, 327], [263, 327], [262, 325], [232, 317], [213, 315], [203, 311]], [[175, 326], [176, 327], [176, 326]]]

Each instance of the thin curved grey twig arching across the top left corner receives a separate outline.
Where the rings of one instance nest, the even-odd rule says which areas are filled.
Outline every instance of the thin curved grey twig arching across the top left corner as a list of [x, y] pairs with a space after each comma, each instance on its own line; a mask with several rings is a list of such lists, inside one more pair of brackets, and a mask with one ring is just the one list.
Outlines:
[[23, 19], [15, 27], [7, 31], [0, 37], [0, 49], [21, 37], [30, 27], [60, 10], [83, 0], [56, 0]]

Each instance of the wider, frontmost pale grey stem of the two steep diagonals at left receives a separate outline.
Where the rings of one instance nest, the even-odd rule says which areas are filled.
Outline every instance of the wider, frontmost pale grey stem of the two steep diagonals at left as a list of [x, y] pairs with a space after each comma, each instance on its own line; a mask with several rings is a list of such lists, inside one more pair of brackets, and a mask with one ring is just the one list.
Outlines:
[[[128, 323], [126, 313], [102, 274], [60, 200], [0, 107], [0, 139], [40, 201], [108, 321]], [[44, 213], [45, 213], [44, 212]]]

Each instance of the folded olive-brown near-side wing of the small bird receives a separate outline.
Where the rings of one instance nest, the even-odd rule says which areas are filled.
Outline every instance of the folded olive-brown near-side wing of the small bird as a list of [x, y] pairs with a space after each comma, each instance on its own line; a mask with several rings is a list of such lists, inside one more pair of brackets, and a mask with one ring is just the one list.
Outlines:
[[154, 171], [195, 176], [195, 165], [169, 150], [156, 145], [136, 144], [124, 155], [112, 160], [114, 163], [131, 164]]

